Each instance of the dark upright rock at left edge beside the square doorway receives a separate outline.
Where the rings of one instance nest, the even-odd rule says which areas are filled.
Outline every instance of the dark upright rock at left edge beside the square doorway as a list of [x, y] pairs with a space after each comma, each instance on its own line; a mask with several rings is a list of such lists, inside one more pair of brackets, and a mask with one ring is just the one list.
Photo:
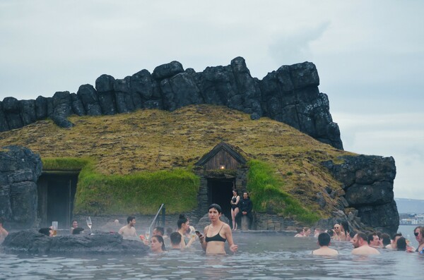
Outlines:
[[37, 180], [42, 162], [25, 147], [6, 146], [0, 150], [0, 217], [13, 229], [37, 225]]

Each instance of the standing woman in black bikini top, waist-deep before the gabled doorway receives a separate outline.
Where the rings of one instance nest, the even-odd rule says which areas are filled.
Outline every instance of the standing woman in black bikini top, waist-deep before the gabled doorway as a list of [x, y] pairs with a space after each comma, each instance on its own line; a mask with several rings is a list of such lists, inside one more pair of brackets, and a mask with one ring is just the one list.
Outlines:
[[211, 224], [206, 226], [204, 234], [199, 236], [201, 247], [206, 251], [206, 255], [225, 255], [225, 241], [228, 241], [230, 250], [236, 252], [238, 246], [232, 241], [230, 226], [220, 220], [222, 209], [219, 205], [209, 206], [208, 217]]

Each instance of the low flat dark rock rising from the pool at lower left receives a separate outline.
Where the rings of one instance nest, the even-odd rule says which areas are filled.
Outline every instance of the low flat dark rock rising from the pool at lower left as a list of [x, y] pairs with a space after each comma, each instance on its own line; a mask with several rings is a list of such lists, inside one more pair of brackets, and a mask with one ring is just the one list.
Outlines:
[[48, 237], [34, 230], [9, 233], [0, 246], [9, 253], [47, 254], [146, 254], [148, 246], [140, 241], [124, 240], [118, 233]]

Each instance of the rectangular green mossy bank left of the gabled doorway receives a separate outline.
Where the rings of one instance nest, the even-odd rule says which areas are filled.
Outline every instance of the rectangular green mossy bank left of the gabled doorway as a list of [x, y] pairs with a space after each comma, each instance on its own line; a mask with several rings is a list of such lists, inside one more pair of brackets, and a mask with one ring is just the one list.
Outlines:
[[155, 214], [165, 203], [168, 214], [197, 206], [199, 177], [183, 169], [104, 175], [87, 166], [81, 171], [75, 214]]

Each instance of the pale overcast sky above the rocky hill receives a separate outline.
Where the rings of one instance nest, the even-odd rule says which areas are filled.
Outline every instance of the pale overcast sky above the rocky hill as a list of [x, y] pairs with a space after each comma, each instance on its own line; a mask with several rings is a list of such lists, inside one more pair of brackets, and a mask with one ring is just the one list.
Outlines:
[[392, 156], [395, 197], [424, 200], [424, 1], [0, 0], [0, 100], [245, 58], [259, 79], [315, 63], [345, 150]]

